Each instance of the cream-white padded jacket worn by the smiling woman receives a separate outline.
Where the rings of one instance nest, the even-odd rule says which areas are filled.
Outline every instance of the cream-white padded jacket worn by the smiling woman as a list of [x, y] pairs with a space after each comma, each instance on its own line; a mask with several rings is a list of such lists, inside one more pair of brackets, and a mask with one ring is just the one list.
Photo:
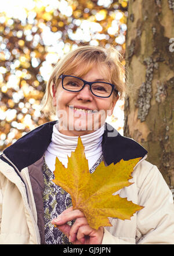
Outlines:
[[[50, 124], [55, 123], [50, 122], [49, 128]], [[42, 126], [39, 127], [41, 130]], [[35, 136], [34, 132], [39, 134], [39, 129], [28, 133], [29, 137], [24, 136], [26, 141], [27, 139], [31, 141], [31, 137]], [[42, 136], [43, 133], [42, 128]], [[46, 133], [48, 133], [48, 130], [46, 130]], [[52, 131], [50, 129], [51, 134]], [[50, 135], [48, 141], [50, 141]], [[119, 138], [121, 137], [119, 136]], [[124, 137], [121, 139], [127, 141], [128, 138]], [[12, 151], [6, 150], [0, 157], [0, 244], [41, 243], [41, 230], [39, 229], [40, 224], [38, 222], [40, 216], [37, 209], [39, 197], [34, 195], [34, 185], [32, 184], [34, 182], [28, 170], [31, 166], [37, 166], [39, 169], [42, 165], [42, 157], [38, 158], [37, 161], [34, 161], [35, 159], [32, 157], [34, 162], [22, 169], [15, 162], [17, 157], [11, 155], [9, 159], [10, 153], [14, 152], [14, 149], [16, 150], [19, 145], [21, 147], [26, 141], [21, 139], [18, 144], [16, 143], [16, 145], [12, 145], [13, 147], [11, 146]], [[133, 140], [129, 141], [129, 143], [134, 143], [134, 146], [136, 145], [136, 142]], [[120, 145], [119, 150], [121, 148]], [[111, 150], [113, 151], [112, 147], [113, 145], [111, 145]], [[27, 158], [25, 161], [22, 161], [25, 158], [23, 151], [24, 149], [22, 149], [21, 155], [18, 156], [18, 160], [30, 162], [31, 159]], [[141, 151], [141, 148], [139, 148], [139, 151]], [[144, 152], [146, 153], [146, 151], [142, 152], [143, 154]], [[28, 158], [30, 157], [28, 155]], [[146, 157], [147, 154], [137, 163], [132, 173], [133, 178], [130, 181], [133, 184], [117, 192], [121, 197], [127, 197], [128, 200], [133, 201], [135, 204], [143, 205], [144, 208], [134, 214], [131, 220], [122, 221], [121, 219], [110, 218], [113, 226], [104, 228], [102, 244], [174, 244], [174, 205], [172, 193], [157, 166], [147, 162], [145, 160]], [[13, 161], [11, 161], [12, 158]]]

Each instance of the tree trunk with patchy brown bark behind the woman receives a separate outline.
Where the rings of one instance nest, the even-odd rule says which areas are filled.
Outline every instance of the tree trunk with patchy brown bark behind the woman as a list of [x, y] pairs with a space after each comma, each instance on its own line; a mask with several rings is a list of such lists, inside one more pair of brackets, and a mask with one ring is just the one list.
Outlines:
[[174, 191], [174, 0], [129, 0], [124, 136], [148, 151]]

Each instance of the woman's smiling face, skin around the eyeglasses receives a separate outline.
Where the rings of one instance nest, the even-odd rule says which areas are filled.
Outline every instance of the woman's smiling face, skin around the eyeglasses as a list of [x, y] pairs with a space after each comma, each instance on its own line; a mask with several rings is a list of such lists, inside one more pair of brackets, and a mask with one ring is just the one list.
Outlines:
[[[79, 69], [82, 68], [79, 67], [73, 74], [67, 75], [78, 76]], [[96, 80], [110, 82], [97, 66], [93, 66], [81, 79], [89, 82]], [[74, 93], [64, 90], [60, 80], [57, 90], [54, 86], [52, 90], [53, 106], [56, 106], [56, 115], [59, 119], [59, 131], [68, 136], [82, 136], [99, 129], [107, 115], [113, 113], [117, 102], [114, 94], [109, 98], [96, 97], [91, 93], [88, 84], [81, 91]]]

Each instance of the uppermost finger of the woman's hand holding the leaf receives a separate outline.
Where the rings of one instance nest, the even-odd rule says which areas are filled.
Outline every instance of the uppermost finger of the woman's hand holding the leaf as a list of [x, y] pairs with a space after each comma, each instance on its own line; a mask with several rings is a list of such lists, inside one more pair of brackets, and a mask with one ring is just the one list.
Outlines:
[[72, 221], [73, 219], [81, 218], [84, 216], [85, 215], [83, 212], [79, 211], [78, 209], [75, 209], [73, 211], [60, 214], [59, 216], [57, 216], [57, 218], [53, 220], [53, 224], [63, 225], [67, 221]]

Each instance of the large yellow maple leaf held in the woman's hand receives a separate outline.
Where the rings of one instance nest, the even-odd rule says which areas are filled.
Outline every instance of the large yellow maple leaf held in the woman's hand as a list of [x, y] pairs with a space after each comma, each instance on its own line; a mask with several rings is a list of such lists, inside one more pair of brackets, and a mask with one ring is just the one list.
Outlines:
[[132, 178], [133, 168], [140, 159], [122, 159], [108, 166], [101, 162], [95, 172], [90, 173], [84, 145], [79, 137], [75, 152], [68, 157], [67, 168], [56, 157], [53, 182], [71, 195], [73, 209], [84, 212], [90, 227], [112, 226], [108, 217], [131, 219], [136, 211], [143, 208], [118, 194], [113, 195], [133, 184], [128, 180]]

